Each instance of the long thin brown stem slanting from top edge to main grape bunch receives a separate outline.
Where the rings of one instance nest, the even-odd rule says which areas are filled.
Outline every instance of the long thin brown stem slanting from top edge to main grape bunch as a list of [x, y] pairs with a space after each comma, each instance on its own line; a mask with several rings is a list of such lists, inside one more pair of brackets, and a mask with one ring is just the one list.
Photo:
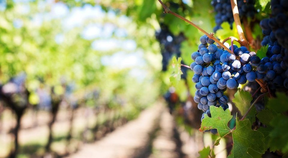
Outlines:
[[204, 33], [205, 35], [207, 35], [210, 39], [213, 39], [216, 43], [218, 43], [221, 47], [223, 47], [226, 51], [228, 51], [229, 53], [233, 53], [229, 48], [227, 48], [223, 43], [221, 43], [216, 37], [214, 37], [214, 33], [208, 33], [205, 30], [203, 30], [202, 28], [200, 28], [199, 26], [197, 26], [196, 24], [194, 24], [193, 22], [189, 21], [188, 19], [184, 18], [183, 16], [174, 13], [173, 11], [171, 11], [161, 0], [158, 0], [162, 7], [164, 8], [164, 13], [170, 13], [174, 16], [176, 16], [179, 19], [184, 20], [185, 22], [189, 23], [190, 25], [194, 26], [195, 28], [197, 28], [198, 30], [200, 30], [202, 33]]

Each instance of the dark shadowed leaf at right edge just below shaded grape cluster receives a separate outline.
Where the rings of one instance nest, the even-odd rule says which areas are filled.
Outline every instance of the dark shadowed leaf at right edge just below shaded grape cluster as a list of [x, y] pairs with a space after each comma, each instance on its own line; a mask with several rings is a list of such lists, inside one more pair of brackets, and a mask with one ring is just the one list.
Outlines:
[[288, 110], [287, 101], [288, 97], [284, 93], [276, 92], [276, 98], [270, 98], [266, 107], [273, 109], [278, 113], [283, 113]]

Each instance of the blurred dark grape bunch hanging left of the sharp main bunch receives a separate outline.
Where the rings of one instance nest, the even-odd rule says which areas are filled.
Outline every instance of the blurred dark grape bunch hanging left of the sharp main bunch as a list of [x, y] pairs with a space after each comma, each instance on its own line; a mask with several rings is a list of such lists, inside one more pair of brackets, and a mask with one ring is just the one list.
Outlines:
[[[167, 25], [160, 24], [161, 30], [156, 31], [156, 39], [160, 42], [161, 54], [162, 54], [162, 71], [167, 71], [167, 66], [170, 59], [175, 55], [176, 57], [181, 56], [181, 43], [185, 40], [184, 34], [180, 33], [178, 36], [174, 36]], [[183, 62], [182, 62], [183, 63]], [[183, 63], [184, 64], [184, 63]], [[187, 76], [187, 68], [183, 68], [182, 78]]]

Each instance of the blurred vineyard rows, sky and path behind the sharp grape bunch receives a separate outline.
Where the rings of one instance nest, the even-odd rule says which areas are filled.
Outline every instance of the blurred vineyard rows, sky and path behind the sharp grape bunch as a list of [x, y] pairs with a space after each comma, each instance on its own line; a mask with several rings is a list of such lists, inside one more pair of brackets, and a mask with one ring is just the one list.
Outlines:
[[[220, 41], [239, 38], [231, 17], [215, 21], [211, 0], [163, 2]], [[241, 16], [253, 51], [267, 6], [256, 0]], [[193, 158], [207, 147], [227, 157], [229, 141], [213, 146], [219, 135], [198, 130], [189, 67], [203, 33], [163, 11], [158, 0], [0, 0], [0, 157]], [[236, 92], [225, 92], [231, 129]]]

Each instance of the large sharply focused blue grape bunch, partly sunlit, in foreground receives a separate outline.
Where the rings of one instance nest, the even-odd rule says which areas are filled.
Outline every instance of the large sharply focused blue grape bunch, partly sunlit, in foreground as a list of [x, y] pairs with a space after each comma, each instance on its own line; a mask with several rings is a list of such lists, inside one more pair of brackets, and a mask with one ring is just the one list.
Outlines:
[[[239, 84], [262, 78], [262, 74], [257, 71], [261, 60], [255, 52], [249, 52], [243, 46], [230, 46], [234, 54], [223, 51], [206, 35], [200, 37], [200, 42], [198, 51], [191, 55], [194, 60], [190, 65], [194, 71], [192, 80], [197, 89], [194, 101], [200, 110], [211, 117], [210, 106], [221, 106], [224, 110], [228, 108], [228, 98], [223, 95], [227, 88], [235, 89]], [[214, 130], [211, 132], [215, 133]]]

